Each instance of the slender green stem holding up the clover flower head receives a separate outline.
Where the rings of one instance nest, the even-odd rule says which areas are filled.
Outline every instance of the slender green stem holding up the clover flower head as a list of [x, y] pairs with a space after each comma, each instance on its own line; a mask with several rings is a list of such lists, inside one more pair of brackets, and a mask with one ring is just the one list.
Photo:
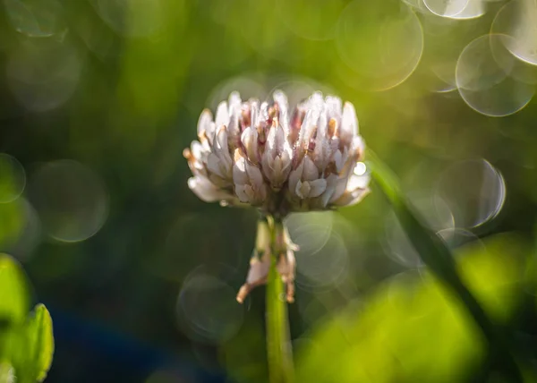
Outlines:
[[287, 303], [284, 283], [277, 272], [279, 249], [277, 237], [283, 235], [281, 221], [269, 219], [270, 229], [270, 270], [267, 281], [267, 356], [268, 380], [270, 383], [290, 383], [293, 381], [293, 355], [287, 322]]

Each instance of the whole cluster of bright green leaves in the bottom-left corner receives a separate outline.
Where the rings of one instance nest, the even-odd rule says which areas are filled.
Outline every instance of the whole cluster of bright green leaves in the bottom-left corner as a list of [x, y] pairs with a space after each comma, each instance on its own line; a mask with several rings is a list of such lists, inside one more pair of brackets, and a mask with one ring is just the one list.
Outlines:
[[52, 319], [43, 304], [30, 315], [28, 283], [19, 264], [0, 254], [0, 382], [41, 382], [54, 354]]

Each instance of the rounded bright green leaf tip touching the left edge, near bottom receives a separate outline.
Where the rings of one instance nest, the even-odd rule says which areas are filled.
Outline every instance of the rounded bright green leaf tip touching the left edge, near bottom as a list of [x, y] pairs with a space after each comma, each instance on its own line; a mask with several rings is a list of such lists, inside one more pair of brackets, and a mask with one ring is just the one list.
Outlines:
[[26, 276], [21, 266], [0, 253], [0, 321], [21, 323], [30, 310]]

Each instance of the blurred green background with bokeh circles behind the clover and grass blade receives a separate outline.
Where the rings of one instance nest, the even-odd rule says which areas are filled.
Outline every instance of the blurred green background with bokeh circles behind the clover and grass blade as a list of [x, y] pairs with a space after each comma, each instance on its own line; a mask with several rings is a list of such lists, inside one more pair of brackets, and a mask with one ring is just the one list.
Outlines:
[[[182, 152], [204, 107], [274, 89], [354, 103], [536, 370], [536, 25], [529, 0], [3, 0], [0, 251], [54, 320], [47, 381], [266, 381], [264, 291], [234, 301], [257, 213], [198, 200]], [[372, 191], [287, 220], [298, 381], [509, 381]]]

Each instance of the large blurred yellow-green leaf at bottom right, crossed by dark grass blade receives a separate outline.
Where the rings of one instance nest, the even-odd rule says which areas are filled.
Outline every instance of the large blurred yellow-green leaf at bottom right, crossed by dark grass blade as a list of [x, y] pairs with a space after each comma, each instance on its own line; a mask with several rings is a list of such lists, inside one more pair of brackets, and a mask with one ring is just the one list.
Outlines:
[[[487, 313], [509, 319], [524, 246], [499, 235], [457, 252], [457, 269]], [[311, 334], [317, 347], [298, 355], [297, 381], [466, 381], [488, 345], [447, 285], [430, 274], [407, 274], [381, 285], [361, 311], [345, 310]]]

